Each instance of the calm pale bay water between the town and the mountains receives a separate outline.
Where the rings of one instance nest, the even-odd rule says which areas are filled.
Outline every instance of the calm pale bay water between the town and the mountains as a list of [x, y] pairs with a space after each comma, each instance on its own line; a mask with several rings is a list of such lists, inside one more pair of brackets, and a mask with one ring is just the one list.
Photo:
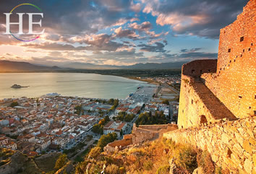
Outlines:
[[[14, 89], [13, 84], [22, 88]], [[0, 99], [41, 97], [54, 92], [61, 96], [124, 99], [143, 85], [153, 84], [101, 74], [0, 73]]]

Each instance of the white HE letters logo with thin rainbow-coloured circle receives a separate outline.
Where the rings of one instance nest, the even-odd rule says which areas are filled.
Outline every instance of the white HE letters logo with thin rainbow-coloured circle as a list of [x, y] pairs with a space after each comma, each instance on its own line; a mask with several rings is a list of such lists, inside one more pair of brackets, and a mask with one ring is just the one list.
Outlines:
[[[7, 21], [7, 23], [6, 23], [7, 28], [6, 28], [6, 32], [4, 33], [4, 35], [12, 35], [12, 37], [14, 37], [15, 39], [20, 40], [22, 42], [31, 42], [33, 40], [36, 40], [36, 39], [40, 38], [39, 35], [42, 35], [43, 32], [44, 32], [44, 29], [41, 32], [33, 32], [33, 25], [40, 25], [40, 27], [42, 27], [42, 21], [41, 21], [42, 19], [40, 19], [39, 22], [34, 22], [33, 21], [33, 16], [39, 15], [40, 17], [43, 18], [43, 13], [17, 13], [18, 16], [19, 16], [18, 22], [10, 22], [10, 16], [11, 16], [12, 12], [14, 12], [14, 9], [17, 9], [17, 7], [19, 7], [19, 6], [25, 6], [25, 5], [34, 6], [36, 9], [38, 9], [40, 12], [42, 12], [42, 10], [38, 6], [35, 6], [34, 4], [25, 3], [25, 4], [20, 4], [20, 5], [15, 6], [11, 10], [11, 12], [4, 13], [6, 15], [6, 21]], [[28, 32], [27, 33], [23, 32], [23, 15], [24, 14], [28, 15]], [[10, 25], [19, 25], [19, 32], [12, 33], [10, 31]], [[22, 39], [16, 37], [14, 34], [17, 34], [17, 35], [38, 35], [38, 37], [33, 38], [31, 40], [22, 40]]]

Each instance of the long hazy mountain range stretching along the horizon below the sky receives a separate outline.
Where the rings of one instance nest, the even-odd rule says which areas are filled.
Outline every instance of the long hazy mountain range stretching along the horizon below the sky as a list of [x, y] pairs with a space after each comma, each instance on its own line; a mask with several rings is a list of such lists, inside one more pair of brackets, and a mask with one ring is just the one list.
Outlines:
[[134, 64], [130, 66], [114, 66], [114, 65], [96, 65], [74, 62], [61, 66], [44, 66], [30, 64], [28, 62], [19, 61], [0, 61], [0, 72], [20, 72], [20, 71], [56, 71], [61, 69], [181, 69], [182, 64], [186, 61], [169, 62], [169, 63], [146, 63]]

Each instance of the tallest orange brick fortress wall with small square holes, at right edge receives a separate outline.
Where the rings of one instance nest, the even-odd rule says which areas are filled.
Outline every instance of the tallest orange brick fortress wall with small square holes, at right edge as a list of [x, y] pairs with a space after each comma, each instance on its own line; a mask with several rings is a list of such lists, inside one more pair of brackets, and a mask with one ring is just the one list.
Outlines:
[[256, 1], [221, 29], [216, 74], [203, 74], [205, 85], [238, 118], [256, 114]]

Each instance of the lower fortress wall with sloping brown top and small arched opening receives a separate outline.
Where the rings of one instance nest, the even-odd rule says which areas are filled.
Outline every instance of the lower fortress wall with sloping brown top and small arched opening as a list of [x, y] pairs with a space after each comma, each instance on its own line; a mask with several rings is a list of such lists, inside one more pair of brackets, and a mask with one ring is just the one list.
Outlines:
[[[207, 61], [204, 61], [207, 62]], [[189, 64], [187, 64], [189, 67]], [[200, 82], [198, 77], [182, 74], [179, 97], [179, 129], [200, 123], [214, 123], [222, 118], [236, 120], [231, 111]]]

